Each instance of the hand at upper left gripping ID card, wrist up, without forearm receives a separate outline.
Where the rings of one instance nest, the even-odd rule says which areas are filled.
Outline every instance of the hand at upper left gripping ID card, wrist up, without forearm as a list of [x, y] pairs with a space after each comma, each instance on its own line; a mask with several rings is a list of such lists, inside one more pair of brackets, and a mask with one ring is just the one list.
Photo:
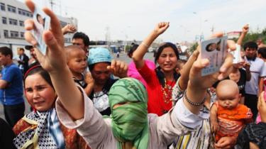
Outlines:
[[[26, 5], [31, 12], [34, 12], [35, 4], [33, 1], [26, 0]], [[50, 9], [44, 8], [43, 11], [51, 18], [50, 31], [43, 32], [43, 40], [48, 46], [48, 49], [46, 50], [45, 55], [40, 53], [40, 50], [37, 48], [34, 50], [43, 69], [47, 70], [48, 72], [58, 72], [58, 70], [65, 69], [65, 67], [67, 67], [64, 53], [64, 38], [61, 31], [60, 21], [55, 13], [53, 13]], [[29, 43], [36, 47], [38, 43], [30, 32], [34, 28], [35, 26], [33, 19], [28, 19], [25, 21], [25, 38]]]

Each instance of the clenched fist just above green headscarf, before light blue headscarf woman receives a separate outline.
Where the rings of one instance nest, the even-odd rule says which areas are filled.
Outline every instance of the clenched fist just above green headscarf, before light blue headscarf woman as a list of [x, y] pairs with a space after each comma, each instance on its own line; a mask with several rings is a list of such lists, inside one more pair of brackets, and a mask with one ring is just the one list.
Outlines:
[[107, 66], [107, 69], [110, 70], [116, 77], [127, 77], [128, 65], [120, 60], [112, 60], [111, 65]]

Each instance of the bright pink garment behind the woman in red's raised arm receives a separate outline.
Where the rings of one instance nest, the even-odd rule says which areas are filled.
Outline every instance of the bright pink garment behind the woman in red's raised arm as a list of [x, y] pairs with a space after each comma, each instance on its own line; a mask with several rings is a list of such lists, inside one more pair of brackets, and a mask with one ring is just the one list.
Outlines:
[[[145, 60], [146, 65], [150, 68], [150, 70], [155, 70], [155, 63], [151, 60]], [[138, 79], [143, 85], [147, 88], [147, 83], [143, 79], [143, 77], [138, 72], [137, 68], [135, 67], [135, 63], [131, 62], [128, 65], [128, 77], [133, 77]]]

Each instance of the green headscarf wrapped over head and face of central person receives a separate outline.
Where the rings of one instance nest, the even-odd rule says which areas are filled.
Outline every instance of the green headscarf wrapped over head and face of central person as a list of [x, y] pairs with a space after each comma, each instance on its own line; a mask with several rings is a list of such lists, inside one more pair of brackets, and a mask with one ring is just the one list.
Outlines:
[[[122, 149], [126, 143], [132, 143], [133, 148], [137, 149], [148, 148], [147, 99], [146, 89], [137, 79], [119, 79], [111, 87], [109, 91], [111, 127], [113, 136], [120, 142], [119, 149]], [[128, 103], [113, 109], [113, 105], [125, 102]]]

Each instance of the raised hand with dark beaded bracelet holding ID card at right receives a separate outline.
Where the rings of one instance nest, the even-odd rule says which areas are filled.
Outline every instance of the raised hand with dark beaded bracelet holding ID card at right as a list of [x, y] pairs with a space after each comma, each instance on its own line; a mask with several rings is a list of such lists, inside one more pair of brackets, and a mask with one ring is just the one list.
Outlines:
[[[214, 37], [221, 36], [219, 33]], [[228, 48], [235, 50], [235, 43], [232, 40], [227, 41]], [[201, 50], [200, 47], [198, 47]], [[187, 99], [184, 98], [184, 105], [191, 111], [193, 114], [199, 114], [201, 106], [194, 106], [189, 104], [189, 101], [192, 103], [201, 103], [204, 101], [204, 96], [206, 94], [206, 89], [211, 87], [217, 80], [221, 80], [228, 76], [231, 72], [233, 65], [233, 55], [230, 53], [227, 54], [226, 60], [223, 62], [219, 72], [216, 72], [212, 75], [206, 75], [201, 77], [201, 70], [209, 65], [208, 59], [201, 59], [201, 53], [199, 54], [197, 60], [192, 65], [192, 69], [189, 72], [189, 83], [187, 86]], [[186, 97], [186, 96], [185, 96]]]

